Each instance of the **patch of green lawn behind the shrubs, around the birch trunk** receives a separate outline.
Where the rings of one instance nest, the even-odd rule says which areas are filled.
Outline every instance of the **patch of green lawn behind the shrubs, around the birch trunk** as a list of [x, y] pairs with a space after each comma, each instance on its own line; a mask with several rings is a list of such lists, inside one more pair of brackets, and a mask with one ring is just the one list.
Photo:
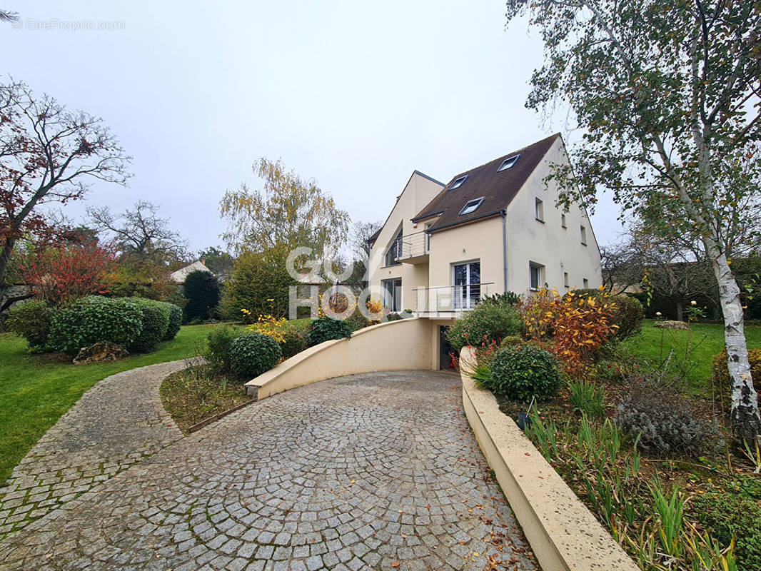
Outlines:
[[[686, 381], [695, 391], [702, 391], [711, 380], [714, 356], [724, 349], [724, 326], [721, 324], [693, 324], [691, 331], [658, 329], [654, 321], [645, 321], [642, 333], [624, 342], [635, 356], [657, 363], [674, 351], [671, 369], [682, 369]], [[761, 347], [761, 327], [745, 326], [748, 349]], [[689, 355], [687, 347], [689, 343]]]

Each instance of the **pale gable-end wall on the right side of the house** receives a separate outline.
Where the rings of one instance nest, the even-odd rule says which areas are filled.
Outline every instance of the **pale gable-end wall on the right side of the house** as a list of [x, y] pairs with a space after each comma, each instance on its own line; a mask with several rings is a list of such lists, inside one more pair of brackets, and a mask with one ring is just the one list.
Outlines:
[[[562, 139], [558, 138], [508, 206], [508, 289], [512, 292], [529, 291], [530, 262], [544, 266], [543, 281], [561, 294], [584, 287], [584, 278], [590, 288], [600, 287], [602, 283], [600, 249], [587, 212], [581, 206], [572, 206], [565, 213], [566, 228], [563, 228], [562, 210], [555, 206], [559, 187], [554, 182], [548, 187], [544, 180], [553, 162], [566, 161]], [[543, 202], [544, 222], [535, 217], [537, 198]], [[586, 246], [581, 244], [581, 225], [587, 229]], [[565, 272], [568, 287], [563, 281]]]

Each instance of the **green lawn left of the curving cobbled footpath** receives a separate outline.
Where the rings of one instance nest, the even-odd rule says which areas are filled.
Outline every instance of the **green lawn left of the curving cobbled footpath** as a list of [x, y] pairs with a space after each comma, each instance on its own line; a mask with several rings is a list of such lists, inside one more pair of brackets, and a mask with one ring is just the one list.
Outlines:
[[20, 337], [0, 335], [0, 483], [40, 436], [97, 381], [130, 368], [192, 357], [212, 327], [185, 326], [174, 340], [160, 343], [154, 352], [84, 366], [28, 355]]

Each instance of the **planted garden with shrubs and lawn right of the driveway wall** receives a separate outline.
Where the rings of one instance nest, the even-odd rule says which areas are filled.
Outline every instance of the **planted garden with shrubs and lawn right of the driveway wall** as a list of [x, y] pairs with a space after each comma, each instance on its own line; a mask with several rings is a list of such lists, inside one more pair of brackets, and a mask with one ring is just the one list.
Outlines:
[[[447, 335], [641, 569], [761, 569], [761, 454], [729, 428], [723, 326], [643, 314], [599, 290], [497, 295]], [[746, 337], [758, 390], [761, 327]]]

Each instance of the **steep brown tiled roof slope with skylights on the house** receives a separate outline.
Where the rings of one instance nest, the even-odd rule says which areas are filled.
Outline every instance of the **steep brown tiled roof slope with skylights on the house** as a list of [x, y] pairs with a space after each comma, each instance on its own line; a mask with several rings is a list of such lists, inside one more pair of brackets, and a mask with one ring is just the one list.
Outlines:
[[[549, 136], [546, 139], [528, 145], [507, 155], [495, 158], [480, 167], [465, 171], [452, 177], [444, 190], [428, 203], [415, 218], [413, 222], [431, 218], [438, 215], [436, 222], [431, 226], [431, 232], [451, 228], [451, 226], [473, 222], [476, 219], [489, 218], [498, 215], [502, 209], [511, 203], [518, 191], [521, 190], [524, 183], [530, 177], [537, 164], [542, 160], [549, 147], [560, 136], [559, 133]], [[514, 155], [521, 155], [521, 158], [513, 167], [506, 171], [497, 172], [497, 169], [506, 158]], [[467, 179], [461, 187], [449, 190], [455, 180], [467, 175]], [[483, 202], [475, 212], [460, 216], [460, 210], [463, 206], [473, 199], [483, 196]]]

